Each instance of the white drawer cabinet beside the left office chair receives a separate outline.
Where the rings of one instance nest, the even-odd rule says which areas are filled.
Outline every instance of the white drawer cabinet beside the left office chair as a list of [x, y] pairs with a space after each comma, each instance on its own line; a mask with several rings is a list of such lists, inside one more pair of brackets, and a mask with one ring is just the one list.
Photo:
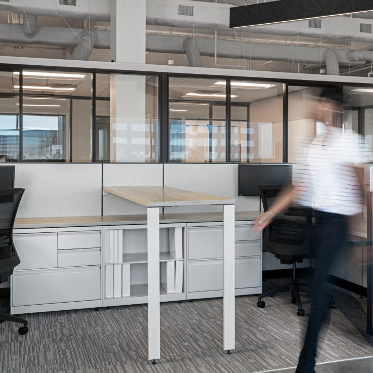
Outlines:
[[11, 313], [102, 306], [101, 227], [16, 229]]

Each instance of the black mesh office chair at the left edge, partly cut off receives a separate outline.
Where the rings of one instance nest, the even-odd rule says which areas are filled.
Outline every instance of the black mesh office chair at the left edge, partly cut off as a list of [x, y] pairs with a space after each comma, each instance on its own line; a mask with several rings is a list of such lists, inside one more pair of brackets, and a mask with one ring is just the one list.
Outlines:
[[[7, 281], [14, 267], [21, 263], [14, 247], [12, 234], [19, 202], [24, 191], [24, 189], [0, 190], [0, 283]], [[18, 329], [20, 335], [28, 331], [27, 320], [0, 310], [0, 322], [4, 321], [22, 323], [23, 326]]]

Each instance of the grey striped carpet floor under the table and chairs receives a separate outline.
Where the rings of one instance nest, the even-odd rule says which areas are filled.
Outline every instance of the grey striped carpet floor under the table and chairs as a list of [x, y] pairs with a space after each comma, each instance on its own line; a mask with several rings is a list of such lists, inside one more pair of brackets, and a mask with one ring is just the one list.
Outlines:
[[[373, 356], [373, 337], [365, 331], [366, 299], [334, 285], [327, 291], [337, 308], [323, 329], [317, 362]], [[156, 365], [147, 360], [146, 305], [28, 314], [25, 336], [16, 324], [0, 324], [1, 372], [252, 373], [293, 367], [309, 313], [302, 295], [304, 317], [297, 316], [289, 294], [266, 298], [264, 309], [257, 307], [255, 296], [236, 297], [236, 348], [230, 355], [222, 349], [221, 298], [162, 303]], [[338, 371], [326, 368], [317, 365], [316, 373]], [[373, 373], [373, 367], [351, 371]]]

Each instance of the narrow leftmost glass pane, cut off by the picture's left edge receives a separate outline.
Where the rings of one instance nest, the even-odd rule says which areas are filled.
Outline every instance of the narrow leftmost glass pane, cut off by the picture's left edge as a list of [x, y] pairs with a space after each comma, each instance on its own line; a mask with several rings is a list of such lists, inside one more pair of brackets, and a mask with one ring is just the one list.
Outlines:
[[0, 71], [0, 161], [19, 161], [19, 74]]

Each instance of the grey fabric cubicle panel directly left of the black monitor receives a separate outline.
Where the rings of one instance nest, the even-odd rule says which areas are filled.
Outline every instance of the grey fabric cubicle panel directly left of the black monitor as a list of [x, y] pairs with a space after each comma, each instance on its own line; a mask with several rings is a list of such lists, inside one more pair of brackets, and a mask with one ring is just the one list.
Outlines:
[[[199, 193], [234, 198], [236, 211], [258, 211], [259, 197], [238, 196], [237, 164], [164, 164], [164, 185]], [[165, 213], [220, 212], [222, 206], [165, 208]]]

